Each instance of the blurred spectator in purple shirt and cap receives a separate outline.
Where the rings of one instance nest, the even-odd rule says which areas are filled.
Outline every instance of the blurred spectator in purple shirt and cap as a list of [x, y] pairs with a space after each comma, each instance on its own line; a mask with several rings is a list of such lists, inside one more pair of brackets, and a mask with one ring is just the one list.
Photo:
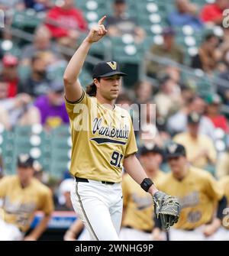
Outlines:
[[63, 101], [63, 84], [59, 81], [50, 83], [47, 95], [38, 97], [34, 105], [40, 111], [41, 124], [45, 128], [56, 128], [59, 125], [69, 123]]

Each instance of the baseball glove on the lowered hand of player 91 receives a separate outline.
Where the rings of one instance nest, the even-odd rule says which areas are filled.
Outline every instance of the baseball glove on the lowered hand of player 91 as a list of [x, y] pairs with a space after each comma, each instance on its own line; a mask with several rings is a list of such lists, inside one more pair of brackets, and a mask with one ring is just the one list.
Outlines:
[[180, 206], [175, 196], [158, 191], [153, 195], [153, 206], [156, 218], [160, 217], [163, 229], [169, 230], [178, 222]]

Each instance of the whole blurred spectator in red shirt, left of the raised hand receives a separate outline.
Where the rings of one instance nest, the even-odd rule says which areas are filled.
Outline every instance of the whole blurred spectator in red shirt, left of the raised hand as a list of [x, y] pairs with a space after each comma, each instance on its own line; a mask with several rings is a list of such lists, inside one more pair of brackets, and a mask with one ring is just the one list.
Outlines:
[[87, 23], [82, 11], [74, 7], [73, 0], [63, 0], [62, 5], [55, 6], [47, 13], [46, 26], [52, 37], [61, 37], [69, 41], [69, 46], [75, 46], [80, 33], [85, 32]]

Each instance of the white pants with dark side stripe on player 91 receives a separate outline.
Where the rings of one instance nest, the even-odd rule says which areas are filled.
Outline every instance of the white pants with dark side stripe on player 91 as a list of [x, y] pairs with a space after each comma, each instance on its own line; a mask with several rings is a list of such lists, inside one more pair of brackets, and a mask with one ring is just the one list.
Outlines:
[[108, 185], [95, 180], [89, 180], [89, 183], [75, 181], [71, 200], [91, 240], [119, 240], [123, 207], [121, 183]]

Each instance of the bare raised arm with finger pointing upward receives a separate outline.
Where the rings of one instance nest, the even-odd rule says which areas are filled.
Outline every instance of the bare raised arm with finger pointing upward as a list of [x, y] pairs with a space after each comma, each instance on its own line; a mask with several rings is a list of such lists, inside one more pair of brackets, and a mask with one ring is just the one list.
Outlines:
[[99, 41], [105, 36], [107, 30], [103, 24], [106, 16], [103, 16], [99, 21], [97, 26], [89, 31], [85, 40], [76, 50], [73, 57], [69, 61], [68, 66], [63, 74], [63, 83], [65, 88], [65, 96], [71, 102], [76, 102], [82, 96], [82, 87], [79, 83], [79, 73], [82, 69], [82, 65], [85, 62], [85, 57], [87, 56], [91, 45]]

